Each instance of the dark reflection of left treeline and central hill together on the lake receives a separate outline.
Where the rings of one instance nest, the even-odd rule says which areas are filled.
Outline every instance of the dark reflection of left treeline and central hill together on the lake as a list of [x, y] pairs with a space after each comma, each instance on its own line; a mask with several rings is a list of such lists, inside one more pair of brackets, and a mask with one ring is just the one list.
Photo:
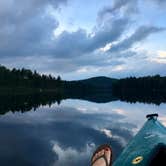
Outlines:
[[60, 104], [65, 99], [83, 99], [87, 101], [93, 101], [96, 103], [106, 103], [116, 100], [111, 93], [100, 92], [100, 93], [89, 93], [88, 95], [80, 93], [54, 93], [54, 92], [41, 92], [29, 95], [0, 95], [0, 114], [5, 114], [8, 111], [26, 112], [32, 109], [36, 110], [40, 106], [49, 105], [54, 103]]

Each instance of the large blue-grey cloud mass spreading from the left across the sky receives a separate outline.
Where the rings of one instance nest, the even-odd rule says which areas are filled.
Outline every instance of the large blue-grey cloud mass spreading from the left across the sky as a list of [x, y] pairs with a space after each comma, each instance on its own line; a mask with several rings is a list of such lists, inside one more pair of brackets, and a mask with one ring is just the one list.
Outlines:
[[[9, 67], [28, 67], [52, 73], [74, 72], [86, 66], [116, 66], [124, 64], [118, 58], [136, 55], [130, 50], [135, 43], [152, 33], [162, 31], [155, 26], [139, 27], [133, 35], [119, 42], [128, 28], [132, 27], [131, 17], [138, 10], [138, 0], [114, 0], [112, 6], [106, 6], [99, 12], [98, 17], [103, 19], [94, 25], [91, 33], [80, 28], [74, 32], [64, 30], [55, 37], [53, 32], [61, 20], [53, 17], [49, 9], [51, 7], [55, 11], [67, 2], [68, 0], [1, 0], [1, 63]], [[155, 2], [163, 3], [159, 0]], [[107, 15], [110, 17], [105, 19]], [[112, 45], [110, 52], [99, 51], [107, 44], [117, 42], [119, 43]]]

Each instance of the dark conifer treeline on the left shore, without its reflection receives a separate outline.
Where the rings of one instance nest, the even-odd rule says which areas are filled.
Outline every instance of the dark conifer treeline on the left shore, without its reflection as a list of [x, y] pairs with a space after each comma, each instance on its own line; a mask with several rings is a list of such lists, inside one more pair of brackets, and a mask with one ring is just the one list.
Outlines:
[[52, 75], [39, 74], [28, 69], [7, 69], [0, 66], [0, 87], [26, 87], [40, 89], [56, 89], [61, 84], [61, 78]]

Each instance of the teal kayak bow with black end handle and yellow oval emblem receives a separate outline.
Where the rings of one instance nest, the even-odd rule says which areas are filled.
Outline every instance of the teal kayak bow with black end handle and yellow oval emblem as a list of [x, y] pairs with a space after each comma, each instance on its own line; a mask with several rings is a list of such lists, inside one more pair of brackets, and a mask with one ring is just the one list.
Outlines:
[[166, 128], [157, 116], [147, 115], [147, 122], [113, 166], [166, 166]]

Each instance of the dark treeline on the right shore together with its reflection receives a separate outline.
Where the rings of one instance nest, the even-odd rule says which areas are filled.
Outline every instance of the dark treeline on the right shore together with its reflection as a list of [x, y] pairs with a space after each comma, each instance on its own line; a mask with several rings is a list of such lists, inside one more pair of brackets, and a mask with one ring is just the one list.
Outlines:
[[119, 79], [113, 84], [113, 95], [128, 102], [166, 102], [166, 77], [155, 75]]

